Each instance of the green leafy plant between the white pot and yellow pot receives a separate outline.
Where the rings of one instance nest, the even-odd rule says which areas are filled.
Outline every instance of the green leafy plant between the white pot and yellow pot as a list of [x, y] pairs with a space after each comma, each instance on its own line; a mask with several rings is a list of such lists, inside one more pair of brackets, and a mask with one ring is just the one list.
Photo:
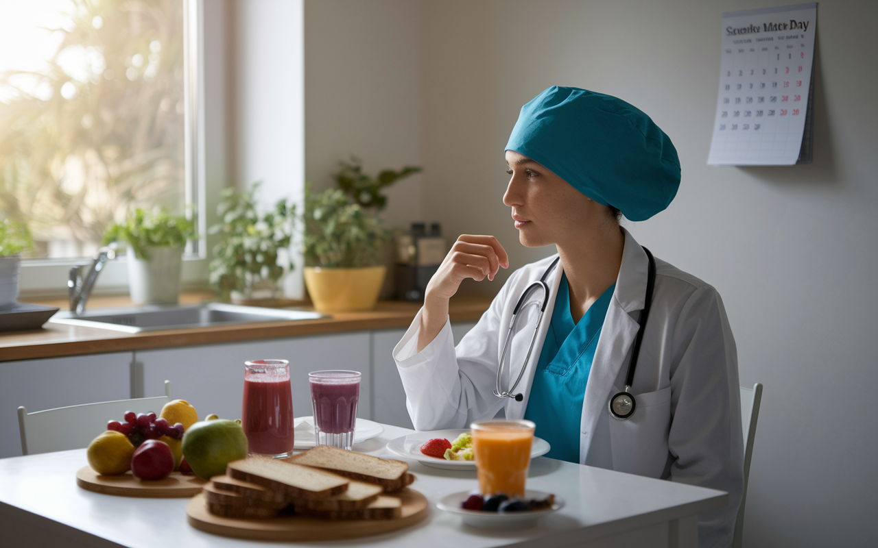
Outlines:
[[219, 234], [210, 263], [210, 282], [225, 300], [232, 291], [248, 295], [258, 280], [269, 280], [276, 289], [284, 266], [293, 267], [291, 262], [280, 265], [277, 260], [278, 251], [292, 241], [296, 205], [281, 199], [274, 210], [260, 216], [255, 205], [258, 188], [257, 182], [244, 192], [224, 189], [217, 207], [219, 223], [209, 230]]

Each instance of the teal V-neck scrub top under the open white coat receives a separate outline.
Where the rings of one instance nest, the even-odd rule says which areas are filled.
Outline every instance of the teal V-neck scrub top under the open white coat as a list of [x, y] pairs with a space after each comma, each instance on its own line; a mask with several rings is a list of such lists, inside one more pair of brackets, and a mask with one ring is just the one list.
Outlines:
[[555, 310], [524, 413], [524, 418], [536, 423], [534, 435], [551, 445], [546, 456], [552, 459], [579, 463], [582, 401], [614, 289], [615, 283], [598, 297], [579, 323], [574, 323], [567, 276], [561, 275]]

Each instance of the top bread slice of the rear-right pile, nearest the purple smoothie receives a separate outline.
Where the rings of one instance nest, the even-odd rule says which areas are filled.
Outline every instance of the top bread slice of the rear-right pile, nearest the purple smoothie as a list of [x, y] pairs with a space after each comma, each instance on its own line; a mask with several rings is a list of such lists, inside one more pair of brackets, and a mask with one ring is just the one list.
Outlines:
[[408, 463], [406, 462], [378, 459], [378, 457], [345, 451], [329, 445], [317, 445], [285, 460], [288, 463], [322, 468], [353, 480], [377, 483], [384, 488], [385, 492], [398, 491], [414, 480], [414, 476], [407, 474]]

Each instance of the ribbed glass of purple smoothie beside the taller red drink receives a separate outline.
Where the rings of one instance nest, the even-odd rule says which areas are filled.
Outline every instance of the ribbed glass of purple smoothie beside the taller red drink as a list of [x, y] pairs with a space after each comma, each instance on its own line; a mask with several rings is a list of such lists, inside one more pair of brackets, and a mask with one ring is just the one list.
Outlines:
[[332, 445], [348, 451], [354, 445], [361, 376], [359, 372], [341, 369], [308, 374], [317, 445]]

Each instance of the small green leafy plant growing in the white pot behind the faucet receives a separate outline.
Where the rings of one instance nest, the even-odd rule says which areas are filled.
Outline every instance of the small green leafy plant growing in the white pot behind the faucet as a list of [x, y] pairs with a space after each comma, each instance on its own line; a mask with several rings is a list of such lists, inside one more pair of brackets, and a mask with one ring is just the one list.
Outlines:
[[104, 246], [121, 242], [130, 247], [138, 259], [149, 258], [149, 247], [183, 247], [195, 236], [195, 225], [166, 210], [134, 210], [125, 224], [112, 224], [104, 234]]

